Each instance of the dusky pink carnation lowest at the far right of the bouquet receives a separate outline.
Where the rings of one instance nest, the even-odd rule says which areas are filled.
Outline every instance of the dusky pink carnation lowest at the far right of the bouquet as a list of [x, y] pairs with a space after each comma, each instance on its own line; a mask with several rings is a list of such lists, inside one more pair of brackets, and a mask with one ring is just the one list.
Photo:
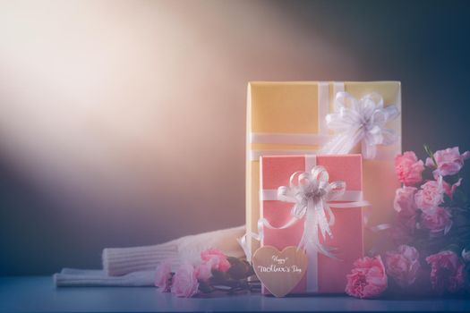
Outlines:
[[426, 258], [431, 265], [432, 288], [438, 292], [458, 292], [465, 285], [464, 262], [446, 250]]

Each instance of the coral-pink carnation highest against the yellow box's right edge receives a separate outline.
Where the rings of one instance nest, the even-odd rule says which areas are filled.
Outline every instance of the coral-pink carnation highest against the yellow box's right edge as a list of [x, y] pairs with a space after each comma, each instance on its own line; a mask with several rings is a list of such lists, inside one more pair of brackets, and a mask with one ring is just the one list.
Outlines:
[[413, 151], [407, 151], [403, 155], [395, 157], [395, 172], [398, 181], [406, 186], [413, 186], [423, 181], [424, 165], [422, 160], [418, 160]]

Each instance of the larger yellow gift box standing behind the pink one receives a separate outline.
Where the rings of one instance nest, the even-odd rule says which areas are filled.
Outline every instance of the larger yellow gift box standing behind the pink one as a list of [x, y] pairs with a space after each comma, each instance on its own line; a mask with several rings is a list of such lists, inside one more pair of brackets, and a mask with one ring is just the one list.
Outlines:
[[[395, 105], [401, 111], [399, 81], [253, 81], [248, 84], [246, 138], [246, 227], [258, 232], [260, 218], [261, 156], [316, 154], [334, 136], [326, 123], [333, 113], [340, 91], [361, 97], [377, 93], [385, 107]], [[401, 134], [401, 118], [389, 121], [387, 129]], [[350, 153], [360, 153], [357, 145]], [[399, 187], [394, 171], [394, 157], [401, 153], [401, 140], [389, 146], [378, 145], [377, 156], [363, 160], [363, 199], [371, 202], [366, 209], [368, 225], [388, 223], [392, 216], [395, 190]], [[365, 246], [371, 247], [373, 233], [365, 231]], [[259, 242], [247, 237], [256, 250]]]

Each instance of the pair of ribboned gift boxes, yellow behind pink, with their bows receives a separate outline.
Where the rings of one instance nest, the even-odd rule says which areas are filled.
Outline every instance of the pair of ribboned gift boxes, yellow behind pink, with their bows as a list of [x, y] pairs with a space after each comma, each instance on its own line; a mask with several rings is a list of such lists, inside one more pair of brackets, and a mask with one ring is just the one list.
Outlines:
[[391, 218], [400, 83], [251, 82], [247, 100], [247, 257], [295, 246], [308, 266], [290, 293], [344, 292]]

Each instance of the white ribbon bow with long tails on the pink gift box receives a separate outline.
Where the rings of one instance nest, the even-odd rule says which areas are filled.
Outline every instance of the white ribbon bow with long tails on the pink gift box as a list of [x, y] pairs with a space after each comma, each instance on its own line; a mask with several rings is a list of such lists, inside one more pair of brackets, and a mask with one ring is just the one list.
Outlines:
[[[315, 166], [312, 172], [295, 172], [289, 186], [278, 188], [278, 200], [295, 202], [291, 215], [295, 219], [305, 216], [299, 249], [316, 250], [330, 258], [330, 249], [320, 244], [319, 230], [323, 237], [332, 237], [329, 226], [335, 224], [335, 216], [328, 201], [340, 198], [346, 191], [346, 182], [329, 182], [329, 173], [323, 166]], [[327, 218], [328, 214], [328, 218]]]

